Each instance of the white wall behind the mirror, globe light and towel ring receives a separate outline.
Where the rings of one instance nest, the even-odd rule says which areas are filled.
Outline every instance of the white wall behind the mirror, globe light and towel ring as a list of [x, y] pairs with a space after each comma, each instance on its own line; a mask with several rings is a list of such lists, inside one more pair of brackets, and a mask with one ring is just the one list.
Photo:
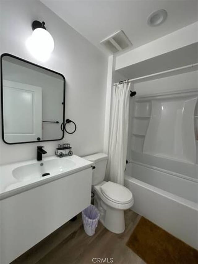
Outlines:
[[[0, 1], [0, 51], [11, 53], [54, 71], [66, 78], [66, 118], [74, 120], [77, 130], [66, 134], [75, 154], [103, 150], [107, 58], [94, 45], [55, 15], [40, 1]], [[50, 59], [41, 63], [25, 46], [33, 20], [45, 21], [54, 37]], [[43, 142], [47, 155], [53, 155], [58, 141]], [[1, 164], [36, 157], [37, 143], [6, 145], [0, 142]]]

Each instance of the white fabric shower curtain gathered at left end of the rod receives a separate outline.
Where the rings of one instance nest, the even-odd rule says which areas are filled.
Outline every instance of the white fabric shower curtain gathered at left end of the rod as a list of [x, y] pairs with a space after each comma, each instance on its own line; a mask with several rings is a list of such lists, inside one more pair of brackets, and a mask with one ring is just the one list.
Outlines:
[[109, 159], [106, 175], [110, 181], [124, 184], [127, 158], [130, 83], [114, 86], [111, 116]]

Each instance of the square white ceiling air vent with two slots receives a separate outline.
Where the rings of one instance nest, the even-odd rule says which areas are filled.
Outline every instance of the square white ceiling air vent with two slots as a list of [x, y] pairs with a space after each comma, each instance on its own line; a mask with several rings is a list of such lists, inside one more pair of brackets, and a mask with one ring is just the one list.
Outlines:
[[110, 37], [105, 38], [100, 43], [111, 53], [117, 53], [132, 46], [131, 41], [127, 38], [123, 30], [119, 30]]

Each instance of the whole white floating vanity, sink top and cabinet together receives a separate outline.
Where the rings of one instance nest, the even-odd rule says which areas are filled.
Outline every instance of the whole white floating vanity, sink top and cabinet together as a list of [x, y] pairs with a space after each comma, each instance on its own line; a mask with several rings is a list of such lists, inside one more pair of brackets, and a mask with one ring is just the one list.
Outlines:
[[0, 263], [10, 263], [90, 204], [92, 166], [73, 155], [0, 167]]

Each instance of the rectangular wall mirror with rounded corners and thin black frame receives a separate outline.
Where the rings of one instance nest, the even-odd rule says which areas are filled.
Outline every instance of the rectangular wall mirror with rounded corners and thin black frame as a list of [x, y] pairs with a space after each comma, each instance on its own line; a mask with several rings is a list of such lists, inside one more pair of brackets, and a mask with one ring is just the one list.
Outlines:
[[1, 55], [2, 138], [7, 144], [61, 140], [65, 78], [11, 54]]

